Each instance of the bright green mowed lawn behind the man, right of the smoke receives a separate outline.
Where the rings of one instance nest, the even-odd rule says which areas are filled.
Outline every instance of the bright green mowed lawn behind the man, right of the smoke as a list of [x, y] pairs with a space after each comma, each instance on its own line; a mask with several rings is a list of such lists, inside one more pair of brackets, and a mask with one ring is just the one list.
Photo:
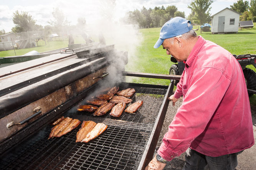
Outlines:
[[[197, 26], [195, 26], [197, 28]], [[196, 29], [195, 28], [195, 29]], [[169, 74], [169, 68], [173, 62], [170, 61], [170, 56], [167, 56], [166, 50], [159, 47], [154, 49], [153, 46], [159, 38], [161, 28], [140, 29], [143, 36], [141, 46], [137, 47], [136, 56], [130, 56], [129, 62], [126, 65], [126, 71], [131, 72], [146, 72], [156, 74]], [[239, 30], [238, 34], [211, 34], [211, 32], [196, 31], [198, 35], [210, 40], [231, 54], [256, 54], [256, 23], [254, 28]], [[253, 65], [248, 66], [256, 72]], [[159, 80], [152, 78], [130, 78], [129, 82], [168, 85], [169, 80]], [[256, 105], [256, 95], [250, 97], [250, 101]]]

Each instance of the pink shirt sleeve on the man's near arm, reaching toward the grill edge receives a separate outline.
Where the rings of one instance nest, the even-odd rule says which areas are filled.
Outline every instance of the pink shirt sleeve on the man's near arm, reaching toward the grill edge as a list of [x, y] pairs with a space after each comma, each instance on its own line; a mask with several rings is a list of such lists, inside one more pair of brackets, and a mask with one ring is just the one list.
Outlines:
[[204, 131], [230, 85], [230, 79], [214, 68], [196, 69], [189, 79], [184, 101], [158, 150], [158, 154], [168, 161], [185, 152]]

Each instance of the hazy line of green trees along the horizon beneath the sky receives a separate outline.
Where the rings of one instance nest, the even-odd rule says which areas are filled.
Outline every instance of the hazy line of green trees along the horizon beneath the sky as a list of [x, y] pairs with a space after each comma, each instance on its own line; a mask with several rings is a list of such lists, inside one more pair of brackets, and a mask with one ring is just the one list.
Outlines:
[[[113, 8], [115, 7], [115, 0], [107, 0], [107, 2], [113, 2]], [[202, 25], [203, 23], [210, 23], [210, 5], [213, 3], [213, 0], [192, 0], [192, 2], [187, 6], [191, 13], [186, 18], [191, 21], [192, 24]], [[111, 7], [112, 7], [111, 6]], [[238, 0], [237, 2], [230, 5], [232, 10], [235, 10], [242, 15], [240, 16], [240, 21], [253, 20], [256, 22], [256, 0], [251, 0], [243, 2], [243, 0]], [[106, 12], [104, 12], [106, 13]], [[25, 31], [45, 31], [46, 34], [51, 33], [61, 33], [69, 32], [74, 29], [85, 29], [86, 21], [84, 17], [77, 19], [76, 25], [70, 25], [67, 21], [66, 16], [59, 8], [54, 8], [53, 20], [48, 21], [49, 25], [42, 26], [37, 25], [36, 20], [26, 12], [18, 10], [13, 13], [13, 23], [15, 27], [11, 29], [13, 33], [20, 33]], [[161, 27], [170, 20], [172, 17], [181, 16], [185, 18], [184, 11], [178, 11], [175, 5], [154, 7], [154, 9], [146, 9], [144, 6], [141, 10], [129, 11], [124, 18], [121, 20], [128, 22], [129, 24], [138, 24], [139, 28], [153, 28]], [[110, 18], [110, 16], [106, 16]], [[0, 35], [5, 34], [5, 30], [0, 30]]]

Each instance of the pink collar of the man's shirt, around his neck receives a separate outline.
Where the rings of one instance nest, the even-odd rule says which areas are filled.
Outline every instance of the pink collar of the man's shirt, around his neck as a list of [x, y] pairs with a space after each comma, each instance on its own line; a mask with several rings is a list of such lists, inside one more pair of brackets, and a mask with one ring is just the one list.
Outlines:
[[189, 57], [187, 57], [186, 60], [186, 64], [190, 67], [193, 62], [195, 57], [197, 56], [197, 54], [199, 53], [200, 49], [202, 48], [203, 44], [205, 43], [205, 39], [202, 38], [202, 36], [199, 36], [199, 39], [197, 40], [197, 42], [195, 43], [192, 51], [189, 54]]

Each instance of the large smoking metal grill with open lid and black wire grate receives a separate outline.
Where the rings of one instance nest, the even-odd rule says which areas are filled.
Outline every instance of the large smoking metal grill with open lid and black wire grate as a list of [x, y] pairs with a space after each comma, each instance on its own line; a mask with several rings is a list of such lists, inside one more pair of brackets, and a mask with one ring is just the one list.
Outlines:
[[[173, 90], [173, 84], [168, 87], [126, 83], [124, 75], [167, 79], [179, 79], [179, 76], [123, 72], [124, 68], [120, 68], [120, 63], [121, 61], [125, 61], [124, 64], [127, 63], [127, 53], [113, 49], [110, 52], [109, 46], [106, 48], [108, 49], [106, 53], [102, 48], [100, 53], [95, 53], [94, 49], [94, 54], [89, 57], [89, 60], [88, 56], [77, 58], [72, 54], [69, 59], [59, 60], [59, 63], [54, 61], [44, 67], [35, 68], [36, 71], [42, 72], [39, 75], [27, 77], [26, 81], [34, 80], [33, 84], [24, 80], [23, 72], [2, 77], [2, 80], [9, 78], [7, 82], [13, 80], [9, 87], [15, 88], [10, 88], [10, 92], [7, 91], [7, 86], [0, 89], [2, 92], [0, 95], [2, 110], [0, 169], [133, 170], [143, 169], [149, 163], [158, 141], [169, 103], [167, 97]], [[89, 53], [86, 51], [86, 54]], [[73, 63], [70, 63], [71, 61]], [[28, 64], [34, 65], [34, 62], [33, 60]], [[61, 65], [61, 68], [56, 68], [56, 65]], [[20, 68], [17, 66], [15, 69]], [[56, 70], [61, 70], [58, 71], [61, 73], [56, 74]], [[27, 71], [33, 73], [33, 70]], [[106, 75], [106, 72], [109, 75], [95, 78]], [[21, 74], [20, 77], [19, 74]], [[42, 78], [42, 75], [47, 76]], [[18, 86], [19, 84], [21, 87]], [[113, 85], [118, 85], [120, 90], [128, 87], [135, 88], [136, 92], [131, 97], [133, 100], [131, 103], [143, 100], [141, 108], [134, 114], [124, 112], [119, 118], [110, 116], [108, 113], [94, 117], [92, 114], [76, 111], [77, 107], [84, 104], [90, 96], [94, 96], [95, 92]], [[32, 101], [29, 96], [33, 96]], [[9, 98], [14, 101], [11, 102]], [[10, 119], [19, 122], [23, 119], [22, 117], [33, 115], [31, 108], [38, 105], [41, 107], [41, 113], [36, 113], [38, 116], [27, 123], [12, 124], [7, 128]], [[48, 140], [53, 127], [50, 123], [60, 116], [69, 116], [81, 122], [91, 120], [95, 123], [104, 123], [108, 127], [103, 134], [88, 143], [75, 142], [81, 125], [64, 136]]]

